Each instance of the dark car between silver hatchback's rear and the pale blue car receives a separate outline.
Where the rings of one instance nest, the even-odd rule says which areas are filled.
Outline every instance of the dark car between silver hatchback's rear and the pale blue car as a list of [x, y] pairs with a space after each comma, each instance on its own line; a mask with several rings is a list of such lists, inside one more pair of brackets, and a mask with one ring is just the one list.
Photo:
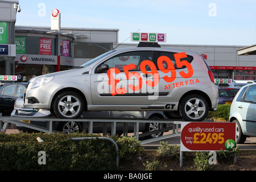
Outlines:
[[228, 84], [218, 85], [218, 105], [232, 104], [234, 97], [240, 88]]

